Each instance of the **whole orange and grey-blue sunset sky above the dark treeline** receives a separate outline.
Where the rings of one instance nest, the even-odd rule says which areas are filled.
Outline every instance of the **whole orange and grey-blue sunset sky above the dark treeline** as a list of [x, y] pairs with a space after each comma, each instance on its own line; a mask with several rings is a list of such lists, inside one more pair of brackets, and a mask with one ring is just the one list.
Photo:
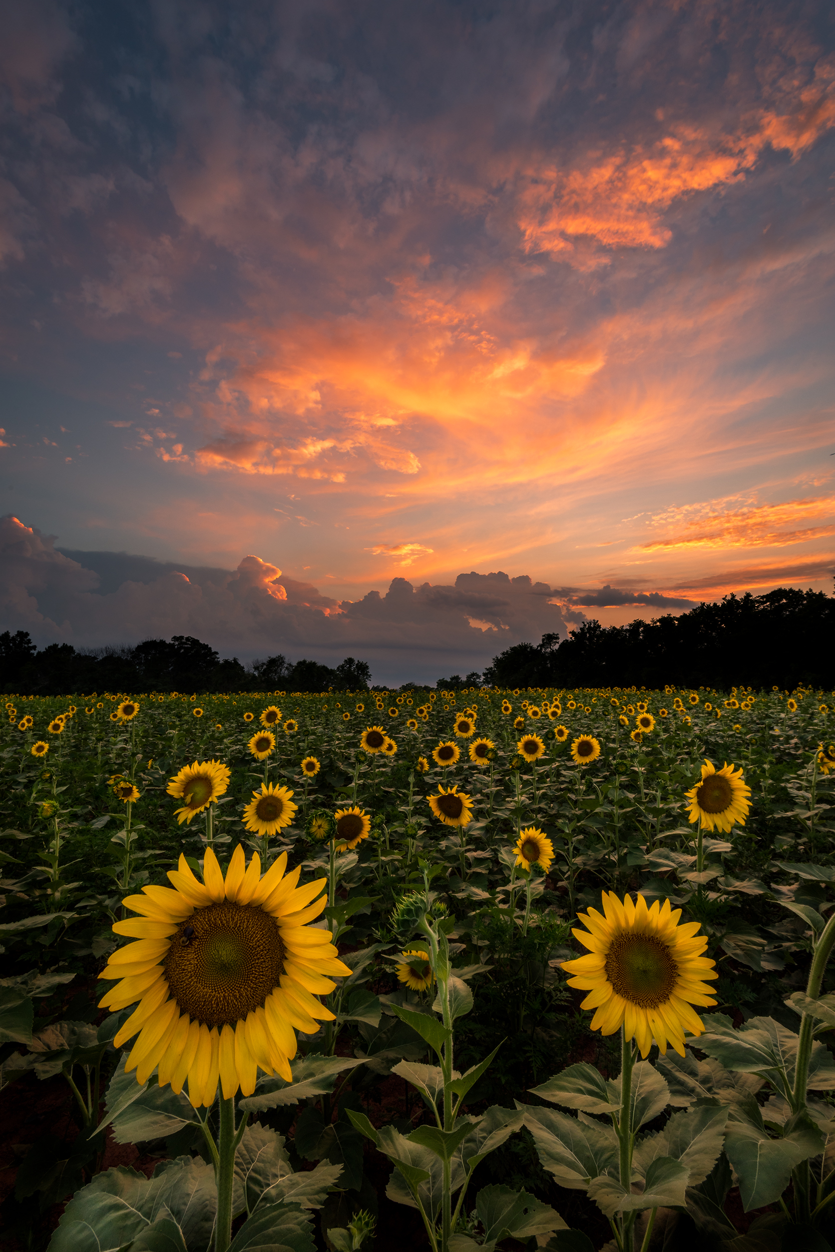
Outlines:
[[831, 593], [834, 49], [826, 0], [6, 6], [0, 629], [393, 682]]

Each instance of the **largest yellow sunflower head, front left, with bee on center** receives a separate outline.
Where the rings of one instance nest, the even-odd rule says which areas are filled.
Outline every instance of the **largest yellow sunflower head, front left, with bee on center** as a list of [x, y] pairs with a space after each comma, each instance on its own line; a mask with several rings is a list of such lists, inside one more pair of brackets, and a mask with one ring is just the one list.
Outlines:
[[144, 886], [124, 900], [140, 916], [113, 929], [136, 943], [99, 975], [119, 979], [100, 1007], [139, 1000], [114, 1040], [119, 1048], [139, 1032], [125, 1062], [138, 1082], [159, 1067], [159, 1085], [179, 1093], [188, 1080], [197, 1108], [214, 1103], [218, 1078], [224, 1099], [238, 1088], [252, 1096], [258, 1069], [292, 1079], [295, 1030], [312, 1034], [333, 1019], [315, 997], [334, 989], [328, 974], [351, 970], [330, 931], [307, 925], [327, 904], [325, 880], [297, 888], [300, 866], [284, 876], [285, 868], [282, 853], [262, 878], [258, 854], [247, 868], [238, 846], [224, 881], [208, 848], [203, 883], [180, 856], [168, 874], [174, 890]]

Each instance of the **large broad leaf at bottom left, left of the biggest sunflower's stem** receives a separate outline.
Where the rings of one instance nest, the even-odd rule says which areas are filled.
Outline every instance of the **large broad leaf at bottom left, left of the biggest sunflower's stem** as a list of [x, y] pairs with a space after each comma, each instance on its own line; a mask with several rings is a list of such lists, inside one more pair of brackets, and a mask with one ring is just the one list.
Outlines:
[[96, 1174], [73, 1196], [49, 1252], [116, 1252], [158, 1217], [173, 1219], [187, 1247], [208, 1246], [217, 1208], [214, 1169], [204, 1161], [178, 1157], [145, 1178], [119, 1166]]

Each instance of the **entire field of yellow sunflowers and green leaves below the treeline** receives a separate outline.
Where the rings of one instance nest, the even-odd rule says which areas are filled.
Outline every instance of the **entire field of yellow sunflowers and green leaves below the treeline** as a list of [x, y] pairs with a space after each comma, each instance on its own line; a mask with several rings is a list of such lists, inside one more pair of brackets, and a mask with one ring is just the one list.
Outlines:
[[835, 1249], [835, 692], [6, 714], [1, 1248]]

